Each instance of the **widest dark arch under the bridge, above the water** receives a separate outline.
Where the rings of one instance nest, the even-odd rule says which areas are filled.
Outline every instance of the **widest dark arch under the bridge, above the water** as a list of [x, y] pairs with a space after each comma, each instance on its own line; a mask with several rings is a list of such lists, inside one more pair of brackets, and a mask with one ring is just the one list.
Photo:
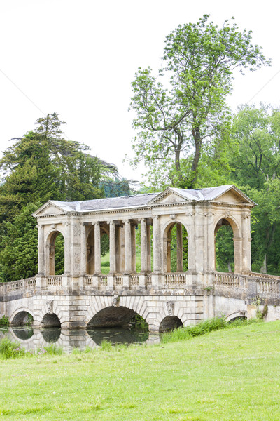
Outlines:
[[144, 342], [148, 339], [148, 323], [127, 307], [106, 307], [87, 323], [87, 333], [100, 345], [102, 340], [115, 343]]

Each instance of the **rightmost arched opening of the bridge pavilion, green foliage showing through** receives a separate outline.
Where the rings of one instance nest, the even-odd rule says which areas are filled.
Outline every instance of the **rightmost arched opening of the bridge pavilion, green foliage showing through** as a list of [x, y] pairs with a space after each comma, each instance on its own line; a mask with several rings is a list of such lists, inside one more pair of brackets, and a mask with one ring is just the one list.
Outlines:
[[235, 272], [239, 267], [236, 262], [234, 227], [225, 218], [218, 221], [215, 228], [215, 268], [218, 272]]

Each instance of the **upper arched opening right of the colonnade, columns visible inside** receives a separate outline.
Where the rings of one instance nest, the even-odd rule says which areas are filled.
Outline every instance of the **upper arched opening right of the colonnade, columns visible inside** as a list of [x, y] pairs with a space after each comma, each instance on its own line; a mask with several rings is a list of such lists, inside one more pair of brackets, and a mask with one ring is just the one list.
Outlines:
[[170, 224], [165, 235], [165, 272], [188, 270], [188, 233], [180, 222]]

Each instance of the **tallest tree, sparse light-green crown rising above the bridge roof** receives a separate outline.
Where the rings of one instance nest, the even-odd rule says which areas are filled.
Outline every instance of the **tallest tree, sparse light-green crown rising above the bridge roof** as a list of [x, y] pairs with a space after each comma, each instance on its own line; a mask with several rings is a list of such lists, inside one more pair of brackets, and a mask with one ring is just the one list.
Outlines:
[[208, 19], [204, 15], [172, 31], [158, 77], [150, 67], [139, 68], [132, 82], [132, 125], [138, 130], [132, 164], [144, 161], [153, 185], [195, 187], [204, 145], [230, 127], [225, 101], [233, 72], [270, 64], [261, 48], [251, 44], [251, 31], [239, 32], [228, 20], [218, 28]]

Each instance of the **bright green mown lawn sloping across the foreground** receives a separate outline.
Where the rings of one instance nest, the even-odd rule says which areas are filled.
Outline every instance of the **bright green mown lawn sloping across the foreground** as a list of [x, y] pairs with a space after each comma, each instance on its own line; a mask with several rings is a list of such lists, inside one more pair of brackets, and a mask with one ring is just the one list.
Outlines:
[[1, 420], [280, 420], [280, 321], [0, 365]]

